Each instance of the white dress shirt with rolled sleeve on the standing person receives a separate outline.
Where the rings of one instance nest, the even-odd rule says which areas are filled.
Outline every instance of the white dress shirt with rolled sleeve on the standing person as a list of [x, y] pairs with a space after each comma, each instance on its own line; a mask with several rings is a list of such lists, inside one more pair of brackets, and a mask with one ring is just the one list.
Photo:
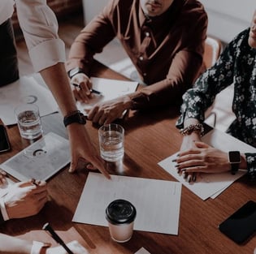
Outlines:
[[65, 45], [58, 36], [58, 21], [46, 0], [0, 0], [0, 24], [11, 17], [14, 4], [34, 70], [65, 62]]

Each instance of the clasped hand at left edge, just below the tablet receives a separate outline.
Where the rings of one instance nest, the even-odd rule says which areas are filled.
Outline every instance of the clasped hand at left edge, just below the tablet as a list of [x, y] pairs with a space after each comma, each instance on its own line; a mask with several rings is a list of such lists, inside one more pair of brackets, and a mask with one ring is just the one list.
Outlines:
[[14, 183], [4, 196], [9, 218], [33, 216], [42, 209], [47, 201], [46, 182], [32, 181]]

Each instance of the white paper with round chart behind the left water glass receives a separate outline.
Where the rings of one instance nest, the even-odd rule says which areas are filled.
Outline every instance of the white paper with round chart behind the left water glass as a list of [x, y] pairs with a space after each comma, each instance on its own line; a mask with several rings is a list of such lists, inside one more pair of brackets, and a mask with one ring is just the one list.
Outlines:
[[15, 124], [14, 110], [22, 103], [37, 104], [40, 115], [51, 114], [59, 110], [50, 90], [42, 86], [33, 76], [24, 76], [14, 83], [0, 88], [0, 115], [6, 125]]

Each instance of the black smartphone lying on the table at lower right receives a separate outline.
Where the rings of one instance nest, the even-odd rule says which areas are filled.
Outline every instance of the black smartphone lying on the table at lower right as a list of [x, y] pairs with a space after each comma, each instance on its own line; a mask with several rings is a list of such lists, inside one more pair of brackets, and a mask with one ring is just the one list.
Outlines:
[[219, 224], [219, 230], [236, 243], [244, 243], [256, 230], [256, 202], [249, 200]]

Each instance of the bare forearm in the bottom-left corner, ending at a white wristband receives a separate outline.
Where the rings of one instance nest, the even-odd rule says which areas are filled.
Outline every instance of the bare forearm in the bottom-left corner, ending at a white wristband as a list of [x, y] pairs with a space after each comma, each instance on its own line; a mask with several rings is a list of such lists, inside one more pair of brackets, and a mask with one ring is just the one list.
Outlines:
[[30, 254], [33, 243], [27, 240], [18, 239], [0, 233], [0, 253], [1, 254]]

